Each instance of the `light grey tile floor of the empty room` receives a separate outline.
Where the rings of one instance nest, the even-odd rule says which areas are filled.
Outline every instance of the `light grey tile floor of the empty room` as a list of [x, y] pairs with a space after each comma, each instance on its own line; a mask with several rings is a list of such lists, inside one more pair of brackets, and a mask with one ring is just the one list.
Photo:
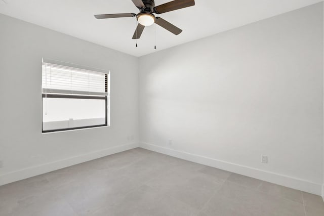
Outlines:
[[136, 148], [0, 186], [0, 215], [323, 216], [324, 202]]

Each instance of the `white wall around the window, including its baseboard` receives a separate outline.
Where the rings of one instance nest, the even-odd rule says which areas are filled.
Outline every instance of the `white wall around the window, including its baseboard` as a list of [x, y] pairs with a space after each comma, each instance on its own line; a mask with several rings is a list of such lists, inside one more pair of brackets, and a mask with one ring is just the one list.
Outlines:
[[[138, 146], [138, 58], [1, 14], [0, 29], [0, 185]], [[42, 58], [110, 69], [111, 126], [43, 135]]]

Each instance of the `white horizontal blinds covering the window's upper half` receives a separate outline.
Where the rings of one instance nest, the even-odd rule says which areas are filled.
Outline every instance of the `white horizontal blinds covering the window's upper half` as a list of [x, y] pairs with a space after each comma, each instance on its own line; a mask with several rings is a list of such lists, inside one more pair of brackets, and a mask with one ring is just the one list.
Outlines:
[[43, 62], [43, 94], [108, 95], [108, 74]]

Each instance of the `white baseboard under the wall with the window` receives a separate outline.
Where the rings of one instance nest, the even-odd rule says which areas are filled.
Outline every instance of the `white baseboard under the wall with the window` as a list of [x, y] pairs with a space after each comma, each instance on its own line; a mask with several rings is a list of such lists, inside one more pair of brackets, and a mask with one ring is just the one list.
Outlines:
[[0, 176], [0, 186], [9, 184], [12, 182], [16, 182], [19, 180], [27, 179], [30, 177], [38, 176], [41, 174], [45, 174], [46, 172], [54, 171], [57, 169], [61, 169], [64, 167], [72, 166], [78, 163], [83, 163], [89, 160], [94, 160], [100, 157], [104, 157], [107, 155], [115, 154], [118, 152], [130, 150], [139, 147], [138, 143], [129, 143], [125, 145], [119, 145], [119, 146], [114, 146], [110, 147], [107, 149], [99, 150], [99, 151], [94, 151], [90, 152], [87, 154], [83, 155], [77, 155], [74, 157], [66, 158], [63, 160], [58, 160], [38, 166], [33, 166], [33, 167], [28, 167], [25, 169], [9, 172], [7, 174], [1, 175]]

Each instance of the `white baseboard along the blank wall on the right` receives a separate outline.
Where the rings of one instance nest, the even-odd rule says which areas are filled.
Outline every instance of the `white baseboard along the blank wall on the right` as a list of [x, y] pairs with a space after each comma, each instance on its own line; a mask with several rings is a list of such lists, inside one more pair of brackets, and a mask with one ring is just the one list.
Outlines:
[[222, 160], [217, 160], [214, 158], [182, 152], [182, 151], [165, 148], [165, 147], [144, 143], [144, 142], [140, 142], [139, 147], [147, 150], [155, 151], [158, 153], [170, 155], [173, 157], [181, 158], [184, 160], [192, 161], [195, 163], [200, 163], [207, 166], [212, 166], [215, 168], [227, 170], [230, 172], [234, 172], [236, 174], [252, 177], [255, 179], [260, 179], [266, 182], [271, 182], [273, 184], [282, 185], [289, 188], [305, 191], [308, 193], [324, 196], [324, 193], [322, 195], [322, 185], [309, 182], [303, 179], [285, 176], [274, 172], [269, 172], [269, 171], [249, 167], [249, 166], [239, 165], [239, 164], [230, 163]]

